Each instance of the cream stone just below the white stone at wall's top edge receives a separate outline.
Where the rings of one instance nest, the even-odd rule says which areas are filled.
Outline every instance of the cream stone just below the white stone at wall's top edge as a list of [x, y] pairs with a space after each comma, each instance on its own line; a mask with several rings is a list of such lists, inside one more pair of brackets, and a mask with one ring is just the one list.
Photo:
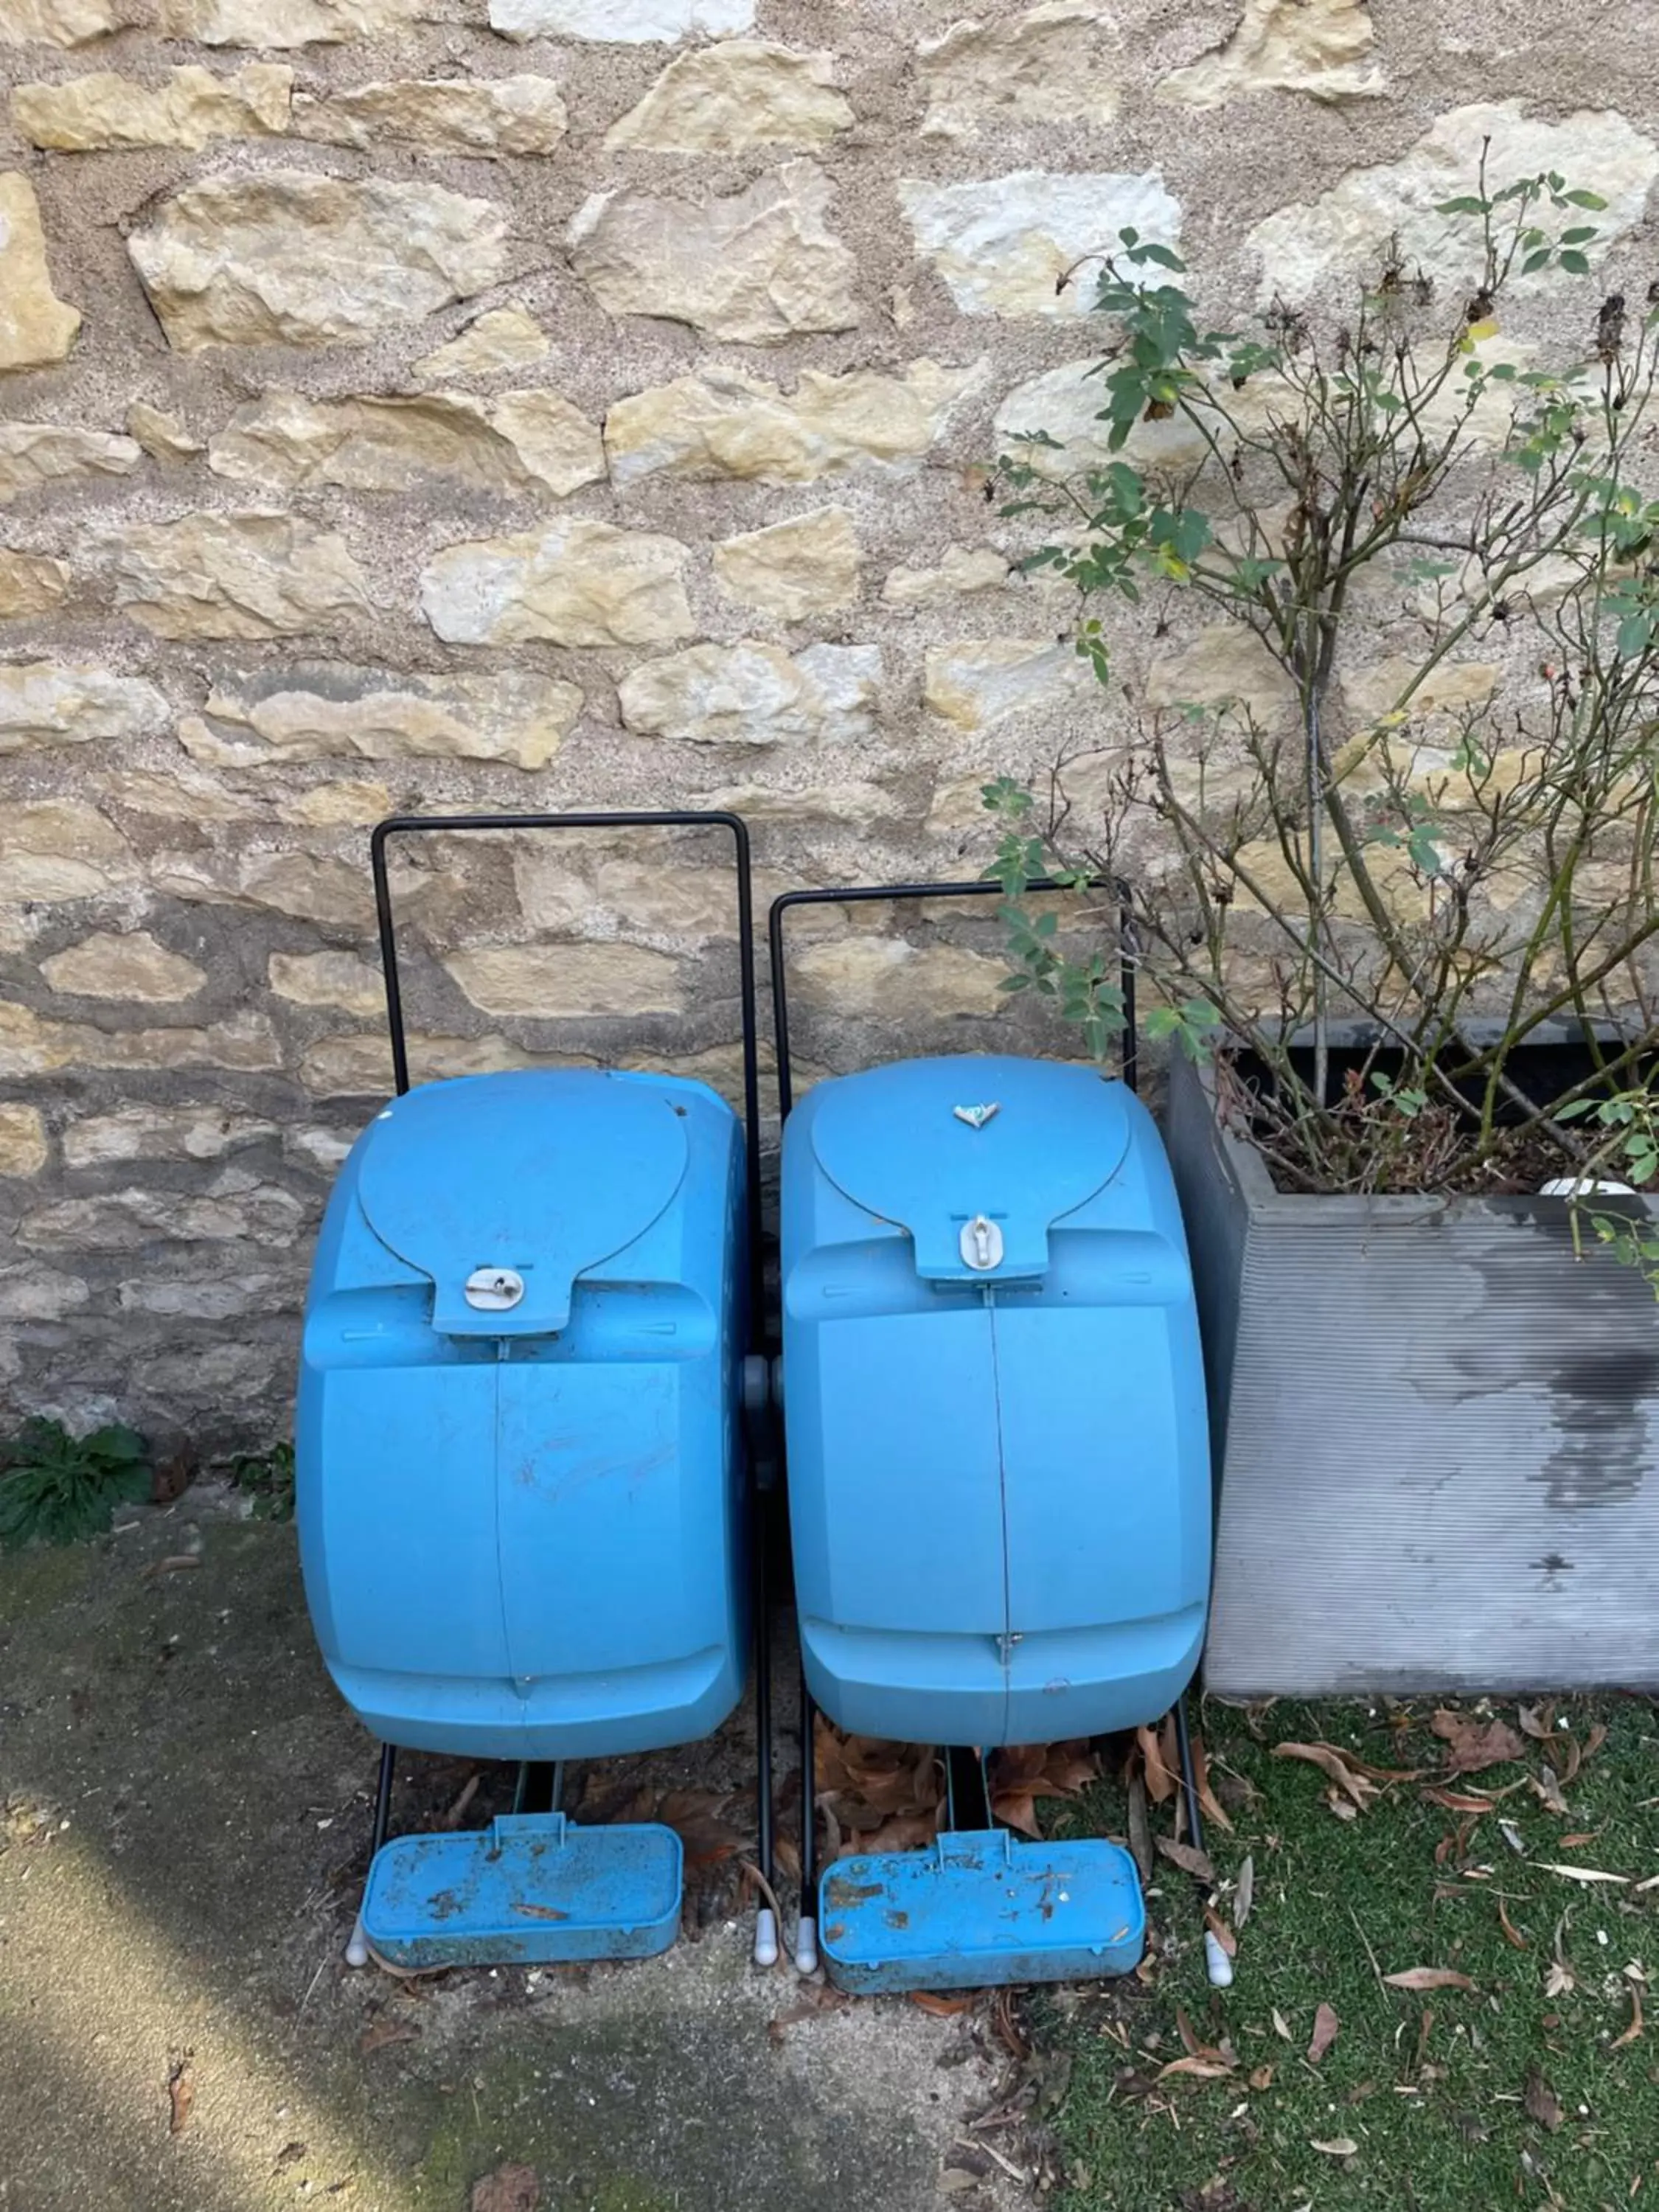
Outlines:
[[854, 115], [834, 91], [832, 53], [792, 53], [732, 38], [677, 55], [639, 106], [606, 133], [615, 153], [750, 153], [757, 146], [827, 146]]

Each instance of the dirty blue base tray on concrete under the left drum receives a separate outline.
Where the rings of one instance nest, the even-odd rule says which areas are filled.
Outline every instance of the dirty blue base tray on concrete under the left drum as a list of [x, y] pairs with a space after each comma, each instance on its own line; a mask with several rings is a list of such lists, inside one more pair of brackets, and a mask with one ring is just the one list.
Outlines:
[[653, 1958], [679, 1929], [670, 1827], [507, 1814], [465, 1836], [398, 1836], [369, 1867], [363, 1933], [394, 1966]]

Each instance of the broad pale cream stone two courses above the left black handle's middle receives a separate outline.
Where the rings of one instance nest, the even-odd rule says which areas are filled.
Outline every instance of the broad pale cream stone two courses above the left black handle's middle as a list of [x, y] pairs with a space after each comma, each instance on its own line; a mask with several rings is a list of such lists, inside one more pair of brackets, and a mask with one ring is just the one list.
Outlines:
[[445, 546], [420, 577], [420, 611], [449, 644], [657, 646], [692, 635], [675, 538], [611, 522], [551, 522], [515, 538]]

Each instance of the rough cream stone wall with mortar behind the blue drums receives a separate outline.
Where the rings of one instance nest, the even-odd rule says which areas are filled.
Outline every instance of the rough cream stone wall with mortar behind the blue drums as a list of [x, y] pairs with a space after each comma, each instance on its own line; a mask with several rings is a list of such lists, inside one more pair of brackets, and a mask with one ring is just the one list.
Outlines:
[[[389, 1084], [376, 816], [737, 805], [768, 894], [978, 874], [982, 776], [1110, 732], [982, 493], [1020, 429], [1099, 451], [1055, 279], [1119, 223], [1232, 312], [1389, 230], [1449, 265], [1489, 135], [1644, 241], [1641, 9], [962, 4], [0, 0], [13, 1416], [283, 1431]], [[717, 860], [411, 849], [416, 1073], [730, 1086]], [[982, 925], [796, 953], [807, 1068], [993, 1033]]]

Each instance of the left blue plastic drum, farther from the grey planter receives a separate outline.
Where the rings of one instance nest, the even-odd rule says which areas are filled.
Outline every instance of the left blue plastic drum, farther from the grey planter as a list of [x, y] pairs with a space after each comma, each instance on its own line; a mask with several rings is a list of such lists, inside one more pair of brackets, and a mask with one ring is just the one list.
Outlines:
[[[467, 1305], [476, 1267], [524, 1298]], [[376, 1736], [478, 1759], [686, 1743], [745, 1655], [743, 1152], [703, 1084], [533, 1071], [394, 1099], [305, 1310], [299, 1531]]]

